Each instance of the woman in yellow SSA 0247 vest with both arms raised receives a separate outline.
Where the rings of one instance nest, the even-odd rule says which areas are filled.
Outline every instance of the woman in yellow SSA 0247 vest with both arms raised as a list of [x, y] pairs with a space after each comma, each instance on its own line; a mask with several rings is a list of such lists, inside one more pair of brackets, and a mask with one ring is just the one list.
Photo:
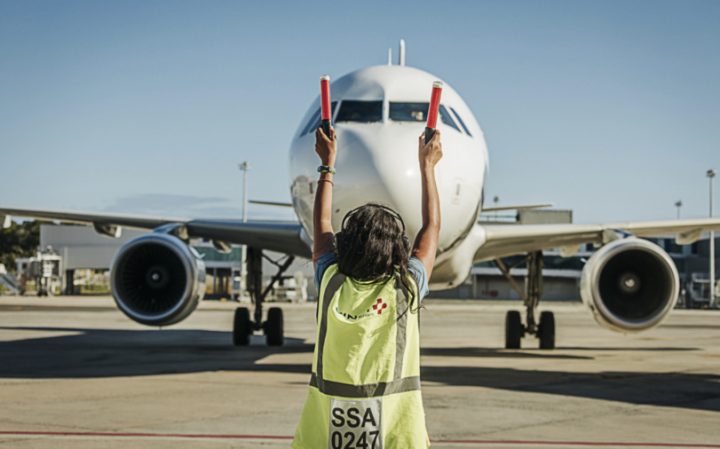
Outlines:
[[[392, 209], [366, 204], [331, 225], [336, 139], [321, 128], [313, 260], [319, 286], [310, 388], [295, 449], [425, 449], [418, 310], [440, 232], [440, 132], [418, 141], [423, 225], [414, 245]], [[342, 174], [338, 174], [342, 176]]]

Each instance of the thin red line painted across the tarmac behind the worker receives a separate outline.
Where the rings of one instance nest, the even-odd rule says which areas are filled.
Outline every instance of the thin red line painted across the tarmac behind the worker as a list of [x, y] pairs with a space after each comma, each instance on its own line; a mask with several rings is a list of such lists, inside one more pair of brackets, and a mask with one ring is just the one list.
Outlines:
[[[218, 433], [146, 433], [146, 432], [52, 432], [0, 430], [2, 436], [43, 436], [43, 437], [108, 437], [108, 438], [180, 438], [180, 439], [223, 439], [223, 440], [292, 440], [287, 435], [243, 435]], [[629, 441], [552, 441], [552, 440], [452, 440], [431, 439], [438, 444], [475, 444], [504, 446], [554, 446], [554, 447], [675, 447], [720, 449], [720, 444], [705, 443], [643, 443]]]

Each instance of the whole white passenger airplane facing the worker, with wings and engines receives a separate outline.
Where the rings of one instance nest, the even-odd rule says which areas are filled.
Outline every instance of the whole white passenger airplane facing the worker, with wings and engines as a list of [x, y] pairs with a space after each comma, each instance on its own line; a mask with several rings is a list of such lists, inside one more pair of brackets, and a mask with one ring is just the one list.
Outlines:
[[[429, 93], [436, 80], [441, 79], [405, 64], [401, 42], [397, 64], [389, 60], [387, 65], [361, 68], [332, 82], [332, 118], [338, 136], [334, 229], [340, 229], [349, 210], [367, 202], [379, 202], [400, 213], [411, 241], [419, 231], [421, 191], [416, 142], [425, 126]], [[468, 105], [447, 82], [443, 83], [439, 129], [444, 156], [436, 168], [442, 229], [430, 289], [459, 285], [474, 263], [485, 260], [496, 261], [511, 279], [502, 258], [525, 254], [528, 276], [521, 291], [525, 317], [523, 320], [516, 310], [507, 312], [505, 347], [518, 349], [522, 337], [532, 335], [541, 349], [552, 349], [554, 315], [543, 311], [537, 316], [542, 296], [542, 250], [560, 248], [563, 255], [569, 256], [580, 245], [591, 243], [599, 249], [583, 268], [581, 297], [596, 321], [624, 333], [660, 324], [675, 305], [680, 282], [668, 254], [643, 237], [672, 234], [678, 244], [690, 244], [703, 232], [720, 230], [720, 219], [547, 225], [479, 222], [481, 212], [498, 210], [483, 209], [487, 146]], [[283, 311], [272, 307], [263, 320], [263, 303], [293, 258], [310, 258], [312, 253], [312, 209], [319, 164], [314, 151], [314, 131], [319, 125], [318, 97], [300, 120], [290, 144], [290, 205], [297, 222], [8, 207], [0, 207], [0, 219], [5, 226], [11, 216], [84, 223], [112, 237], [118, 237], [123, 226], [152, 230], [118, 250], [110, 276], [118, 308], [130, 319], [151, 326], [182, 321], [202, 300], [205, 268], [199, 254], [189, 245], [191, 238], [212, 240], [217, 248], [225, 250], [230, 244], [247, 245], [247, 289], [254, 310], [252, 317], [247, 307], [235, 310], [233, 343], [247, 345], [253, 333], [263, 332], [268, 345], [282, 345]], [[278, 264], [278, 273], [265, 288], [264, 251], [288, 256]]]

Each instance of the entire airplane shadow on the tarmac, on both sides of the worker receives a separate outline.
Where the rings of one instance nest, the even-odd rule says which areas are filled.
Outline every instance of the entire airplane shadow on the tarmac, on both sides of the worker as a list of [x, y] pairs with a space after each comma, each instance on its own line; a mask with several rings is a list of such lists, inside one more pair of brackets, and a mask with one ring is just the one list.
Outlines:
[[[253, 337], [244, 348], [231, 346], [228, 332], [207, 330], [103, 330], [52, 327], [0, 327], [13, 331], [61, 332], [0, 342], [0, 378], [56, 379], [147, 376], [211, 371], [257, 371], [309, 374], [310, 364], [266, 364], [273, 354], [310, 353], [313, 345], [286, 338], [268, 348]], [[70, 335], [68, 335], [70, 334]], [[573, 349], [573, 348], [564, 348]], [[590, 348], [574, 348], [589, 350]], [[693, 348], [642, 348], [686, 351]], [[624, 350], [623, 348], [597, 348]], [[630, 350], [630, 349], [628, 349]], [[489, 348], [424, 348], [424, 355], [592, 359], [548, 352]], [[582, 362], [581, 362], [582, 363]], [[680, 368], [680, 367], [679, 367]], [[482, 366], [425, 366], [425, 388], [432, 383], [545, 393], [638, 405], [720, 412], [720, 374], [603, 371], [572, 373]]]

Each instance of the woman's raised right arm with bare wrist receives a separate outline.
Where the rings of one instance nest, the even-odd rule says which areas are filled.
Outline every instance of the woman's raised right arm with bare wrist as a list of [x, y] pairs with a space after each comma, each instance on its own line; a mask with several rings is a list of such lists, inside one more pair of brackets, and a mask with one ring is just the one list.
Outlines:
[[435, 182], [435, 165], [442, 158], [440, 131], [436, 130], [433, 138], [427, 144], [425, 143], [425, 134], [420, 135], [418, 156], [422, 179], [423, 226], [415, 237], [412, 254], [423, 263], [427, 277], [430, 279], [440, 236], [440, 197]]

